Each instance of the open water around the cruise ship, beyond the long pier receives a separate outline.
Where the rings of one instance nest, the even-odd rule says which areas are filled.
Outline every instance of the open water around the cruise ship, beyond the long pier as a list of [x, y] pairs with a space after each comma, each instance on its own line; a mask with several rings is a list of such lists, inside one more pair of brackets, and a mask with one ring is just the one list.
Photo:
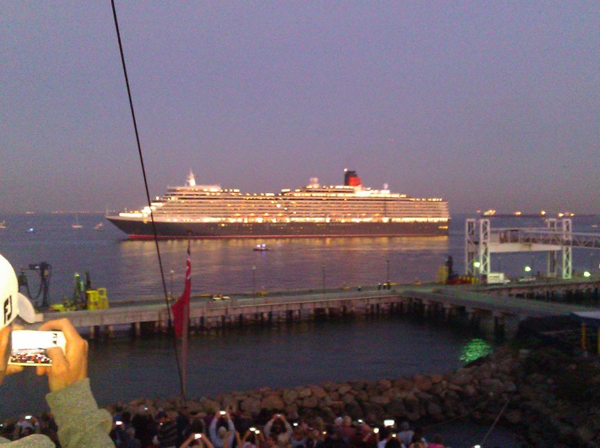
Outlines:
[[[0, 253], [19, 271], [24, 267], [35, 297], [39, 272], [28, 270], [32, 263], [52, 267], [50, 299], [60, 301], [72, 294], [75, 272], [89, 272], [92, 285], [108, 289], [111, 301], [164, 297], [156, 245], [151, 241], [129, 241], [112, 224], [94, 231], [101, 214], [78, 214], [83, 229], [72, 229], [74, 214], [0, 215], [6, 230], [0, 230]], [[431, 281], [447, 256], [464, 272], [465, 215], [455, 217], [449, 237], [437, 238], [282, 238], [278, 240], [232, 239], [193, 240], [192, 294], [232, 294], [257, 290], [328, 288], [342, 285], [376, 284], [390, 279], [397, 283]], [[574, 217], [576, 232], [600, 232], [599, 217]], [[542, 227], [542, 219], [494, 218], [492, 228]], [[33, 228], [35, 233], [27, 233]], [[266, 252], [252, 248], [266, 242]], [[167, 292], [183, 290], [187, 242], [159, 242]], [[389, 260], [389, 261], [388, 261]], [[543, 253], [492, 254], [492, 271], [507, 276], [545, 272]], [[573, 250], [573, 267], [597, 272], [600, 251]], [[253, 269], [254, 267], [254, 269]], [[172, 271], [172, 273], [171, 273]]]

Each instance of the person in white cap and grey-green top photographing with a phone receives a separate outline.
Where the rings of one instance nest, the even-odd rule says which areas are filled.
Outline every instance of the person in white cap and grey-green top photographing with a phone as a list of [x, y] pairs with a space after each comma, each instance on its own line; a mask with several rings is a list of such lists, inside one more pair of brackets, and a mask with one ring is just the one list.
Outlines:
[[[7, 365], [10, 354], [10, 324], [17, 315], [27, 322], [35, 320], [33, 306], [19, 293], [17, 276], [8, 260], [0, 256], [0, 384], [6, 375], [22, 372], [21, 365]], [[88, 342], [81, 338], [67, 319], [50, 320], [39, 331], [62, 331], [65, 350], [47, 349], [51, 365], [37, 365], [36, 373], [46, 375], [50, 393], [46, 400], [58, 426], [58, 440], [63, 447], [114, 447], [108, 433], [113, 419], [105, 409], [99, 409], [88, 378]], [[1, 388], [0, 388], [1, 389]], [[7, 392], [2, 391], [1, 395]], [[0, 444], [10, 442], [0, 438]], [[32, 434], [15, 440], [7, 447], [54, 447], [47, 435]]]

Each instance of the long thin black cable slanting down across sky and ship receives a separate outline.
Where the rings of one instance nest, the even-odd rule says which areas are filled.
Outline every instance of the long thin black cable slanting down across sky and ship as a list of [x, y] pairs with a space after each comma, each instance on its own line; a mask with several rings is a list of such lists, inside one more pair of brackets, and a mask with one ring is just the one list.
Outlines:
[[[123, 45], [121, 43], [121, 33], [119, 33], [119, 22], [117, 21], [117, 10], [115, 9], [115, 0], [110, 0], [110, 4], [113, 6], [113, 17], [115, 18], [115, 29], [117, 31], [117, 40], [119, 41], [119, 53], [121, 53], [121, 62], [123, 64], [123, 74], [125, 76], [125, 84], [127, 86], [127, 96], [129, 98], [129, 108], [131, 109], [131, 118], [133, 119], [133, 128], [135, 129], [135, 141], [138, 143], [138, 155], [140, 156], [140, 165], [142, 165], [142, 174], [144, 176], [144, 187], [146, 188], [146, 199], [148, 201], [148, 207], [150, 209], [150, 219], [152, 222], [152, 233], [154, 235], [154, 244], [156, 244], [156, 254], [158, 255], [158, 265], [160, 267], [160, 277], [163, 280], [163, 292], [165, 293], [165, 304], [167, 305], [167, 316], [169, 319], [169, 329], [173, 329], [171, 320], [171, 307], [169, 306], [169, 298], [167, 296], [167, 282], [165, 281], [165, 272], [163, 270], [163, 260], [160, 258], [160, 249], [158, 248], [158, 235], [156, 233], [156, 224], [154, 223], [154, 213], [152, 211], [152, 204], [150, 201], [150, 192], [148, 189], [148, 181], [146, 177], [146, 169], [144, 168], [144, 157], [142, 156], [142, 146], [140, 145], [140, 135], [138, 133], [138, 123], [135, 121], [135, 111], [133, 110], [133, 100], [131, 99], [131, 89], [129, 88], [129, 78], [127, 76], [127, 69], [125, 67], [125, 56], [123, 53]], [[177, 361], [177, 372], [179, 374], [179, 385], [181, 387], [181, 394], [183, 395], [185, 387], [183, 385], [183, 374], [181, 373], [181, 365], [179, 362], [179, 354], [177, 350], [177, 339], [173, 338], [173, 348], [175, 351], [175, 358]]]

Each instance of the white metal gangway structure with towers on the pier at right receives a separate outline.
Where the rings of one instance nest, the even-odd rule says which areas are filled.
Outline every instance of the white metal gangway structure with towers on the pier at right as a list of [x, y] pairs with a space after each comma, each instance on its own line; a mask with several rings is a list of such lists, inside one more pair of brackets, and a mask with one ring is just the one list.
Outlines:
[[557, 276], [560, 254], [560, 278], [571, 279], [573, 247], [600, 249], [600, 234], [573, 233], [572, 219], [569, 218], [549, 218], [546, 227], [535, 229], [492, 229], [490, 219], [485, 218], [465, 222], [465, 272], [468, 276], [487, 278], [492, 253], [545, 251], [548, 253], [547, 276]]

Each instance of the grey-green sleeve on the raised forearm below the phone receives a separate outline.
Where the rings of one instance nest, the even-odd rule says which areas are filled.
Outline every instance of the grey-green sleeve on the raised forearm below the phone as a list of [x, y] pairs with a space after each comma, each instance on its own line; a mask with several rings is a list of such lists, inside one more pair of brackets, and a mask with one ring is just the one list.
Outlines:
[[113, 419], [106, 409], [99, 409], [86, 378], [50, 392], [46, 401], [58, 425], [58, 440], [64, 448], [114, 447], [108, 436]]

